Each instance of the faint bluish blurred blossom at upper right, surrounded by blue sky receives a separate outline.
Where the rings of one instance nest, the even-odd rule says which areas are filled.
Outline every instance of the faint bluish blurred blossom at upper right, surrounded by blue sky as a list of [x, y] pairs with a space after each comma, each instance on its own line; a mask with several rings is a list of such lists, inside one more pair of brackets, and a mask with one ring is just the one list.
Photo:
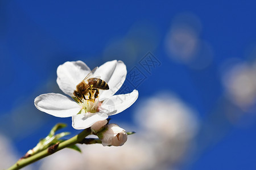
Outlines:
[[168, 56], [192, 69], [204, 69], [212, 62], [210, 44], [200, 39], [200, 19], [191, 13], [182, 13], [172, 20], [166, 35]]

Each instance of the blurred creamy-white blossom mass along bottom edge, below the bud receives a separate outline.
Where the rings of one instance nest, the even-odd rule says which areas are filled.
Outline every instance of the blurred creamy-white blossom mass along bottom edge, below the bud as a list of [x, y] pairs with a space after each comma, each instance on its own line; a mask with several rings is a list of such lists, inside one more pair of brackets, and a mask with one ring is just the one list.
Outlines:
[[[134, 136], [135, 137], [135, 136]], [[70, 149], [56, 152], [43, 159], [43, 169], [150, 169], [154, 164], [154, 153], [144, 141], [129, 137], [122, 147], [83, 145], [82, 154]]]

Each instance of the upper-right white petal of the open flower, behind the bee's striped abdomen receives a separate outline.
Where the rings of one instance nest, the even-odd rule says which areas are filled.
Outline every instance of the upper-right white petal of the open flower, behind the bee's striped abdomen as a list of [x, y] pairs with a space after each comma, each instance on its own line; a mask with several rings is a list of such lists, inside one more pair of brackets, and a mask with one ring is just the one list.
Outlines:
[[104, 98], [113, 96], [125, 82], [127, 70], [122, 61], [109, 61], [101, 65], [95, 76], [101, 76], [101, 79], [109, 84], [109, 90], [101, 90], [100, 101]]

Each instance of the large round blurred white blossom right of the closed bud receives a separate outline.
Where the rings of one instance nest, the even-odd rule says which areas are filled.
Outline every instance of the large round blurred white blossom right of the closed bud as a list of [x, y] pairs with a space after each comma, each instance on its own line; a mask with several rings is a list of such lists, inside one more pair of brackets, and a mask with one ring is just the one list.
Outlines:
[[[198, 129], [195, 112], [176, 96], [158, 95], [137, 111], [144, 138], [151, 142], [158, 164], [175, 165], [189, 154]], [[149, 135], [150, 134], [150, 135]]]

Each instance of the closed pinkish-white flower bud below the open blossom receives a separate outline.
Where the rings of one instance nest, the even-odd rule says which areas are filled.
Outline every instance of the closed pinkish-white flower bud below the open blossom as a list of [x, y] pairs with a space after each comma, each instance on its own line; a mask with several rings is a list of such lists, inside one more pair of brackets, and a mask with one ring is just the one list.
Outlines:
[[127, 133], [118, 125], [109, 124], [106, 130], [103, 130], [98, 137], [103, 146], [122, 146], [127, 141]]

